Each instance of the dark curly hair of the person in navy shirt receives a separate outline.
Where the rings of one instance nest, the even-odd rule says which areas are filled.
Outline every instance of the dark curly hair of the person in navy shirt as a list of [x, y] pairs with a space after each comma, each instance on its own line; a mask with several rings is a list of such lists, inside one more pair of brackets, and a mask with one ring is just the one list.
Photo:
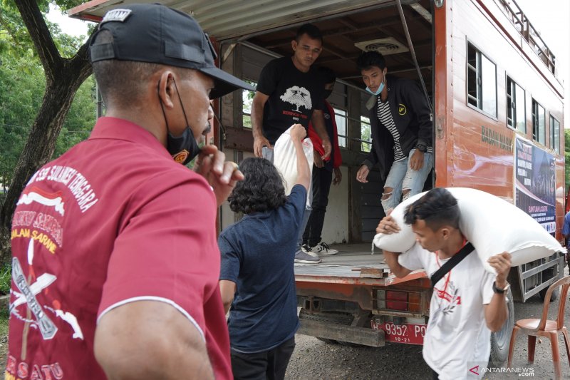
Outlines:
[[283, 179], [272, 163], [264, 158], [246, 158], [239, 164], [245, 179], [229, 195], [229, 208], [250, 214], [274, 210], [285, 204]]

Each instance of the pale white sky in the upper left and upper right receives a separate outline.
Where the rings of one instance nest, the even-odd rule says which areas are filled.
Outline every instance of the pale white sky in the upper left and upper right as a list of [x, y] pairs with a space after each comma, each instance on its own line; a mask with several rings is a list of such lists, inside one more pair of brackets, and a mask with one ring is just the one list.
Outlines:
[[[534, 29], [556, 56], [558, 76], [563, 81], [564, 127], [570, 128], [570, 0], [515, 0], [527, 15]], [[509, 1], [510, 2], [510, 1]], [[71, 19], [50, 4], [48, 20], [59, 24], [61, 30], [73, 36], [86, 36], [86, 21]], [[86, 37], [87, 38], [87, 37]]]

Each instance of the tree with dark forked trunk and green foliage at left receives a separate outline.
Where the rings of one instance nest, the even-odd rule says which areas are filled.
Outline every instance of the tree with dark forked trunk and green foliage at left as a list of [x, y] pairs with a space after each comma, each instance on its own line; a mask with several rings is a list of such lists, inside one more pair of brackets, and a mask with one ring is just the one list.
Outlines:
[[95, 120], [86, 38], [45, 19], [51, 3], [69, 9], [81, 2], [0, 0], [0, 190], [10, 183], [0, 191], [0, 265], [9, 259], [11, 217], [24, 185], [54, 153], [87, 138]]

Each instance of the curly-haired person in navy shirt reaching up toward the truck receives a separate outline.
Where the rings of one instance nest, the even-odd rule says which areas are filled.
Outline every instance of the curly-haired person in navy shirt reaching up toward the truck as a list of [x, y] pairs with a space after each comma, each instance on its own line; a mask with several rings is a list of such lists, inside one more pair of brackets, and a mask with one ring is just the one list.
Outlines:
[[284, 379], [295, 347], [294, 259], [311, 177], [301, 145], [305, 135], [300, 124], [291, 129], [298, 175], [289, 197], [264, 158], [239, 164], [245, 180], [228, 197], [232, 211], [244, 213], [218, 238], [234, 379]]

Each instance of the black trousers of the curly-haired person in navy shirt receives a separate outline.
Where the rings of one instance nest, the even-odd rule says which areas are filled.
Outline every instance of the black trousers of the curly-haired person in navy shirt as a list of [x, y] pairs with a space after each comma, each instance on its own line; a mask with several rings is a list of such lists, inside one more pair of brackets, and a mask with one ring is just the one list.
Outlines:
[[295, 348], [295, 337], [269, 351], [241, 354], [232, 351], [234, 380], [283, 380]]

